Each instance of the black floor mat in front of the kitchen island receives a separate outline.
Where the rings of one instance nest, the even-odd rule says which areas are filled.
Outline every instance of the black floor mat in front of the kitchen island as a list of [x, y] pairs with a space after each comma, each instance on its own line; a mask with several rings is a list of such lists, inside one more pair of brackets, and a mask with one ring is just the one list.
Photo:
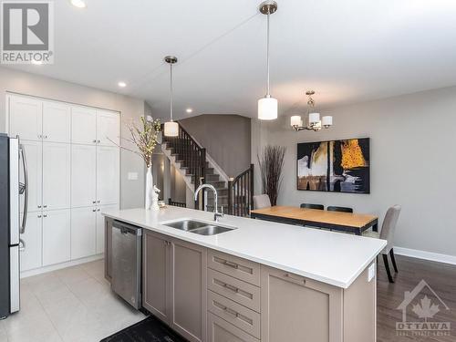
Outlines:
[[187, 342], [165, 326], [160, 319], [149, 316], [133, 326], [126, 327], [100, 342]]

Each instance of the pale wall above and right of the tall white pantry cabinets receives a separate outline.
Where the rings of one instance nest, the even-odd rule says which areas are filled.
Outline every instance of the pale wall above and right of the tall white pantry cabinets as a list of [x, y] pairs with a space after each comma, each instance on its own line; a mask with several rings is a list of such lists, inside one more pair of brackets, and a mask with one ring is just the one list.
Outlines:
[[[60, 81], [54, 78], [16, 71], [0, 67], [0, 131], [5, 131], [5, 94], [15, 92], [41, 98], [51, 98], [80, 105], [111, 109], [120, 112], [122, 136], [129, 131], [124, 122], [138, 119], [144, 115], [144, 101], [139, 98], [130, 98], [120, 94], [88, 88], [77, 84]], [[125, 141], [122, 142], [126, 145]], [[132, 146], [128, 146], [132, 148]], [[128, 172], [138, 172], [137, 181], [128, 181]], [[120, 157], [120, 206], [121, 208], [135, 208], [143, 206], [144, 202], [144, 167], [143, 162], [134, 153], [121, 151]]]

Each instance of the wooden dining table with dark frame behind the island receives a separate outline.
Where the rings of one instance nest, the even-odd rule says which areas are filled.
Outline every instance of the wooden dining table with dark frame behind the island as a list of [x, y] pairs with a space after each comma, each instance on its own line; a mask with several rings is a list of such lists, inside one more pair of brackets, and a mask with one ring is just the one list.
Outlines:
[[251, 217], [277, 223], [302, 224], [333, 231], [356, 233], [357, 235], [361, 235], [370, 227], [374, 232], [378, 232], [378, 217], [364, 213], [328, 212], [276, 205], [253, 210]]

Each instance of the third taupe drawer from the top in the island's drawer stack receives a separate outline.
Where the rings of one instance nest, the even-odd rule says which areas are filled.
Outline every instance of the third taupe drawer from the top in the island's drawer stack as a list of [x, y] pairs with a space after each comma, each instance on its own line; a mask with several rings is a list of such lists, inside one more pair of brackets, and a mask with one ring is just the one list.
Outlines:
[[253, 337], [260, 338], [260, 314], [232, 300], [207, 291], [207, 307], [212, 314], [244, 330]]

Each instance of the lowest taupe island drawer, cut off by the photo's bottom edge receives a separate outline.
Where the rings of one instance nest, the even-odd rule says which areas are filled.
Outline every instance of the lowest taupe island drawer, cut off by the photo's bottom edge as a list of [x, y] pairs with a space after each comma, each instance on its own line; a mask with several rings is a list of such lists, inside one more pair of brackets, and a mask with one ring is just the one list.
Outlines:
[[207, 314], [207, 326], [208, 342], [259, 342], [258, 339], [210, 312]]

